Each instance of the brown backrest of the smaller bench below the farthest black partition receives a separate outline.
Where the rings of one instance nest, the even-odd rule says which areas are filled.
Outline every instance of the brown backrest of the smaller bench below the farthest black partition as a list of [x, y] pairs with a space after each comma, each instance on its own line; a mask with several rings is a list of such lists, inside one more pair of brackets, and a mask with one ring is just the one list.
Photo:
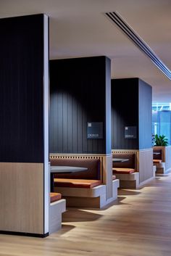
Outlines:
[[113, 168], [131, 168], [135, 169], [135, 154], [134, 153], [113, 153], [113, 158], [129, 159], [126, 162], [113, 162]]

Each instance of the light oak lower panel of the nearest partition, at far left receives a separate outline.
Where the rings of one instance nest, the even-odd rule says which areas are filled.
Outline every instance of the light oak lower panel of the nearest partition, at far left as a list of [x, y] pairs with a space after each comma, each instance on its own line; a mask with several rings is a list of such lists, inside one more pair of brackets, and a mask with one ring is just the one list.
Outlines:
[[43, 234], [43, 164], [0, 163], [0, 231]]

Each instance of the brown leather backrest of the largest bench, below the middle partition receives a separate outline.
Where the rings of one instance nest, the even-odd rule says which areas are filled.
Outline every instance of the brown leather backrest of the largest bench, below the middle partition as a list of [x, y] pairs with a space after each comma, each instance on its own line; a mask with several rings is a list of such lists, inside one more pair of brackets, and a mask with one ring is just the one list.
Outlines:
[[51, 165], [84, 167], [88, 170], [78, 173], [58, 173], [54, 178], [76, 178], [86, 180], [101, 180], [100, 160], [85, 158], [52, 158]]

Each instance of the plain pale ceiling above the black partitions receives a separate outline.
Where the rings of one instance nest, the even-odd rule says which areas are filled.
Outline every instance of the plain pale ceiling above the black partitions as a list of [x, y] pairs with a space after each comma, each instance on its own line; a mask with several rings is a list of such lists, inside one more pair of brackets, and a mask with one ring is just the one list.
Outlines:
[[154, 102], [171, 102], [171, 81], [105, 12], [117, 11], [171, 69], [171, 0], [0, 0], [0, 17], [50, 17], [50, 59], [106, 55], [112, 78], [141, 78]]

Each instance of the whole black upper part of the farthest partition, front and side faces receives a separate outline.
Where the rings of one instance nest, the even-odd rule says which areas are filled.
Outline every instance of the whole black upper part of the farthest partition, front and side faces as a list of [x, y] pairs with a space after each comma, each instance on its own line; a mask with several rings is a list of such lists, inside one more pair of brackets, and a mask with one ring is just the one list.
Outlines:
[[[135, 126], [136, 139], [125, 139]], [[151, 86], [138, 78], [112, 79], [112, 149], [151, 148]]]

